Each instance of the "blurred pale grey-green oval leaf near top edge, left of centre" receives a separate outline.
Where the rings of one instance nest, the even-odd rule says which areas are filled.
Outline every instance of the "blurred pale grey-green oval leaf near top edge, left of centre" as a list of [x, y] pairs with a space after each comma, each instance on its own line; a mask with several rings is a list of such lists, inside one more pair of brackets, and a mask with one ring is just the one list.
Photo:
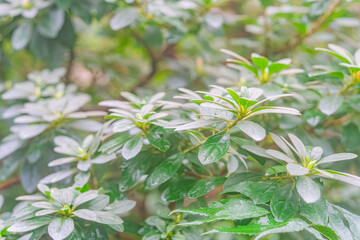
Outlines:
[[136, 8], [124, 8], [116, 13], [110, 20], [110, 27], [112, 30], [119, 30], [127, 27], [135, 22], [138, 17]]

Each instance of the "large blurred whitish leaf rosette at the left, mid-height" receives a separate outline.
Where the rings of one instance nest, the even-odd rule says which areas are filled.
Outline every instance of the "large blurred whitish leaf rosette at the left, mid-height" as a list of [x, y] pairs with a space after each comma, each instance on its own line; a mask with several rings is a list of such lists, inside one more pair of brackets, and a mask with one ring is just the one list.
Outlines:
[[[22, 115], [14, 119], [17, 125], [10, 130], [20, 139], [29, 139], [46, 130], [69, 127], [85, 131], [98, 131], [101, 124], [88, 117], [103, 116], [101, 111], [79, 112], [90, 97], [86, 94], [67, 95], [59, 99], [46, 99], [36, 103], [26, 103]], [[84, 119], [84, 120], [79, 120]]]

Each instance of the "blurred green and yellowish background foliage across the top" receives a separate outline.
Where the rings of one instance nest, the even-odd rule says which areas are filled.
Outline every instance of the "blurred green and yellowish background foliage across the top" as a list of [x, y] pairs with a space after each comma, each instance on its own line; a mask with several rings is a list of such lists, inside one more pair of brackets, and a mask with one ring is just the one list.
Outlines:
[[0, 6], [3, 83], [64, 66], [67, 81], [99, 99], [124, 90], [203, 88], [228, 71], [221, 48], [245, 57], [290, 57], [305, 69], [333, 61], [315, 47], [358, 48], [356, 1], [17, 0]]

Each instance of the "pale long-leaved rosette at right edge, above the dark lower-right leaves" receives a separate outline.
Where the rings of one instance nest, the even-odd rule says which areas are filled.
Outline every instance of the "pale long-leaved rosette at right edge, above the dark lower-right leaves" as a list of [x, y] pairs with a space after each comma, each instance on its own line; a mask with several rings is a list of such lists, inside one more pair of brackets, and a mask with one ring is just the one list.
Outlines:
[[[291, 143], [276, 134], [271, 133], [271, 136], [281, 151], [266, 150], [255, 145], [242, 145], [242, 148], [250, 153], [281, 164], [272, 167], [275, 176], [265, 176], [264, 179], [295, 180], [296, 189], [306, 203], [314, 203], [321, 197], [320, 186], [314, 178], [329, 178], [360, 187], [358, 176], [320, 168], [324, 164], [326, 166], [329, 163], [354, 159], [357, 157], [356, 154], [336, 153], [323, 157], [321, 147], [305, 147], [304, 143], [293, 134], [289, 134]], [[280, 171], [277, 172], [277, 169]]]

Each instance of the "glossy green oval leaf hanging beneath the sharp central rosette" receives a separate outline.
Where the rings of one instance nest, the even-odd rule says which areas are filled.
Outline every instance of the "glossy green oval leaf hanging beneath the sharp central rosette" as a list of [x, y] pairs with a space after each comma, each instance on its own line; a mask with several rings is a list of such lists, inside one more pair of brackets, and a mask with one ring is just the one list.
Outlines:
[[199, 150], [199, 160], [202, 164], [216, 162], [222, 158], [230, 147], [230, 135], [225, 132], [209, 137]]

